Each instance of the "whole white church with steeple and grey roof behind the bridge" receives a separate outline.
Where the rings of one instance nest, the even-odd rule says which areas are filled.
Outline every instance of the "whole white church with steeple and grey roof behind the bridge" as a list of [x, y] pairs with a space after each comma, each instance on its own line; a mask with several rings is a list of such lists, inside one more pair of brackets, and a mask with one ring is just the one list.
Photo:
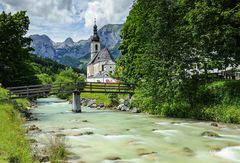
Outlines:
[[117, 82], [110, 76], [115, 71], [116, 62], [107, 48], [101, 50], [96, 21], [93, 27], [93, 36], [91, 37], [90, 48], [91, 59], [87, 66], [87, 82]]

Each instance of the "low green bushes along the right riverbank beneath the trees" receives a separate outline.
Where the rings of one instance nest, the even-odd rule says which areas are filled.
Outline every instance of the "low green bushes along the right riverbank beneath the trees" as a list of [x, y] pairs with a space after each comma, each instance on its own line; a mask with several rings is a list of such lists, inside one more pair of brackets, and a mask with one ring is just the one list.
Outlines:
[[189, 89], [191, 94], [176, 103], [158, 105], [145, 96], [144, 90], [138, 90], [132, 105], [165, 117], [240, 123], [240, 81], [216, 81], [197, 87], [189, 85]]

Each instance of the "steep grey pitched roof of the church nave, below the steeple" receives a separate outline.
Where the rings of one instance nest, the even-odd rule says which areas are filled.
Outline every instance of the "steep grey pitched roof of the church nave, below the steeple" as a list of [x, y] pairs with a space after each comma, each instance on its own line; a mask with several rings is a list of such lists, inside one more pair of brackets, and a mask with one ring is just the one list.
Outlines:
[[105, 62], [106, 64], [115, 64], [115, 61], [107, 48], [104, 48], [103, 50], [98, 52], [89, 62], [89, 65], [98, 62]]

